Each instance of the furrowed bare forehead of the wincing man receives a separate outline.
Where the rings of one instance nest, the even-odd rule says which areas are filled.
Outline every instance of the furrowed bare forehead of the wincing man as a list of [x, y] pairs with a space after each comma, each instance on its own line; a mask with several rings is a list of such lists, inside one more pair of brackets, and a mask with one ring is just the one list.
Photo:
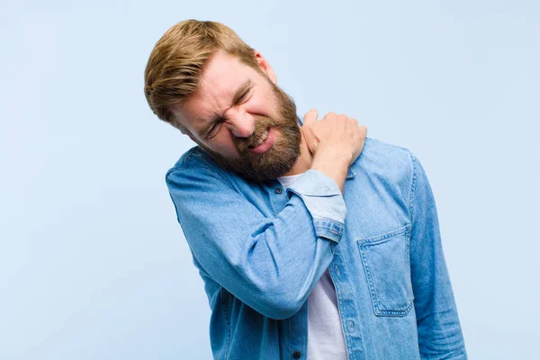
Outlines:
[[226, 110], [238, 87], [247, 79], [255, 80], [256, 76], [257, 71], [237, 57], [217, 52], [202, 70], [197, 91], [172, 110], [185, 126], [193, 128], [194, 120], [207, 119]]

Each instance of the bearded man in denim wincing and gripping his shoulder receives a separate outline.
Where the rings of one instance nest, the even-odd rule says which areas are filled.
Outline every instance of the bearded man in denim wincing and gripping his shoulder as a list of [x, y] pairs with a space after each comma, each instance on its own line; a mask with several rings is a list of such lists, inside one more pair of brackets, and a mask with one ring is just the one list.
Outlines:
[[[464, 359], [419, 160], [293, 101], [220, 23], [177, 23], [145, 71], [198, 146], [166, 174], [211, 306], [216, 359]], [[362, 153], [362, 154], [361, 154]]]

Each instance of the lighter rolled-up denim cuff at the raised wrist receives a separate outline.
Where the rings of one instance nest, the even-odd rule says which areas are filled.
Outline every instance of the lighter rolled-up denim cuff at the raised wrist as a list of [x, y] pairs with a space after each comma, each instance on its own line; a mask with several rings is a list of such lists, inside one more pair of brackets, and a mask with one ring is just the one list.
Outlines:
[[311, 213], [317, 236], [338, 242], [343, 235], [347, 207], [338, 184], [318, 170], [310, 169], [289, 188], [289, 197], [296, 194]]

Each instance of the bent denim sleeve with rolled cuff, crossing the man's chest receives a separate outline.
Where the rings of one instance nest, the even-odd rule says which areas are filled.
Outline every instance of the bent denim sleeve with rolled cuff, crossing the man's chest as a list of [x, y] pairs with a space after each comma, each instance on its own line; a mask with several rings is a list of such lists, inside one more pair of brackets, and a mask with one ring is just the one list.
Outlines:
[[172, 169], [166, 184], [193, 256], [218, 284], [271, 319], [302, 308], [343, 234], [334, 180], [308, 170], [272, 218], [206, 167]]

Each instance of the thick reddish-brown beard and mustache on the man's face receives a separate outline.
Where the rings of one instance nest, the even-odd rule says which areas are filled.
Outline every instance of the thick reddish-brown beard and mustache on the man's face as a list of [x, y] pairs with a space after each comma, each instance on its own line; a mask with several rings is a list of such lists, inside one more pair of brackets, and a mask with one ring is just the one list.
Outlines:
[[[274, 88], [277, 100], [278, 118], [272, 119], [266, 116], [258, 116], [255, 122], [255, 130], [248, 138], [234, 138], [234, 144], [238, 149], [238, 157], [223, 157], [210, 148], [199, 144], [204, 148], [216, 163], [247, 181], [262, 182], [285, 175], [291, 170], [300, 156], [300, 143], [302, 134], [297, 123], [296, 104], [293, 99], [284, 93], [277, 85], [268, 82]], [[275, 137], [272, 148], [263, 154], [249, 151], [249, 148], [257, 147], [257, 140], [272, 129], [281, 133]]]

